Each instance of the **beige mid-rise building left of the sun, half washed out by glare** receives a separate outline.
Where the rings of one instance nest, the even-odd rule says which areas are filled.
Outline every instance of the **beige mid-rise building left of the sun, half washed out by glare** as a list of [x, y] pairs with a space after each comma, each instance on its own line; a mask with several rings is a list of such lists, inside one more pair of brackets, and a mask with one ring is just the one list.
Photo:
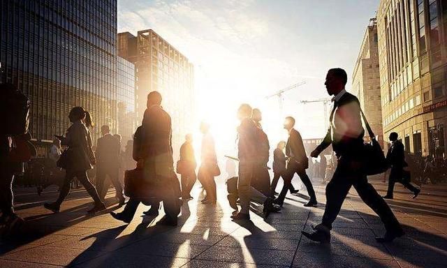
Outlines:
[[177, 156], [192, 126], [194, 111], [193, 65], [152, 29], [118, 34], [118, 55], [135, 65], [135, 112], [141, 122], [147, 94], [159, 91], [163, 107], [172, 117], [173, 149]]

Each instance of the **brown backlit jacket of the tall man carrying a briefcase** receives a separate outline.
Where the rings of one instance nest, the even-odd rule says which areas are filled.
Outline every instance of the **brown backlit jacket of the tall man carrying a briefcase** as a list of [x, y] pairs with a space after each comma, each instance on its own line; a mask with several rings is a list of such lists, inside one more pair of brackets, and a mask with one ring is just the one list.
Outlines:
[[140, 154], [147, 177], [170, 177], [174, 170], [172, 128], [169, 114], [160, 105], [152, 105], [142, 120]]

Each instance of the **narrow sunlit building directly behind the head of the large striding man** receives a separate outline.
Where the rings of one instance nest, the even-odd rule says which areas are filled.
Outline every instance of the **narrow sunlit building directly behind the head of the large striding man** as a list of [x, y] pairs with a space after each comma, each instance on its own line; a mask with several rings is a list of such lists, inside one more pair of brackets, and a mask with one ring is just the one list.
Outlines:
[[[380, 97], [379, 50], [376, 19], [369, 20], [352, 75], [352, 94], [368, 119], [376, 139], [383, 147], [382, 106]], [[366, 140], [369, 135], [365, 133]]]

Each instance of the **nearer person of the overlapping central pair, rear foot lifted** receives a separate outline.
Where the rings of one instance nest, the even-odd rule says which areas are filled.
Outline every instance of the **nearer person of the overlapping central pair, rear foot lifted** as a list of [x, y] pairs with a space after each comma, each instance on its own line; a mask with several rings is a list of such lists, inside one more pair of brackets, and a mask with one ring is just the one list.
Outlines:
[[258, 128], [251, 120], [252, 109], [248, 104], [242, 104], [237, 110], [237, 117], [240, 126], [237, 128], [237, 157], [239, 158], [239, 178], [237, 181], [237, 191], [240, 198], [240, 212], [233, 214], [231, 218], [236, 221], [248, 221], [250, 219], [250, 200], [254, 200], [264, 205], [263, 213], [267, 217], [272, 211], [279, 211], [273, 206], [272, 198], [268, 198], [255, 188], [251, 187], [251, 180], [256, 174], [258, 165]]

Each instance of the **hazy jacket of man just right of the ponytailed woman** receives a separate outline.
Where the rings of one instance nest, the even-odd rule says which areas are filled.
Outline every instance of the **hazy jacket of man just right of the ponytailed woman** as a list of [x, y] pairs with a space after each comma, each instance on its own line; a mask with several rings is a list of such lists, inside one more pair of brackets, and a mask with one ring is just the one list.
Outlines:
[[96, 161], [98, 167], [117, 167], [119, 165], [119, 140], [108, 133], [96, 142]]

